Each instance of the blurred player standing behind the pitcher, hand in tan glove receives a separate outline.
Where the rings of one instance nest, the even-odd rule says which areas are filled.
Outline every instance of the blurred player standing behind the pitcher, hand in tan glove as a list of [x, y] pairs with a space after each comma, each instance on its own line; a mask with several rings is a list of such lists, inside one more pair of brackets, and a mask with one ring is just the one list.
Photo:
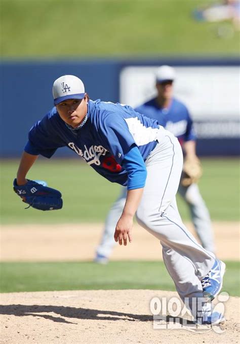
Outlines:
[[[173, 97], [175, 78], [175, 70], [172, 67], [159, 67], [156, 72], [156, 97], [135, 110], [156, 119], [159, 124], [165, 126], [178, 138], [185, 154], [178, 193], [189, 207], [194, 228], [203, 247], [215, 252], [210, 214], [196, 184], [202, 175], [201, 164], [196, 156], [196, 134], [187, 107]], [[106, 264], [108, 262], [115, 245], [113, 238], [115, 224], [121, 216], [125, 199], [126, 190], [123, 188], [107, 215], [102, 239], [96, 251], [95, 262], [97, 263]]]

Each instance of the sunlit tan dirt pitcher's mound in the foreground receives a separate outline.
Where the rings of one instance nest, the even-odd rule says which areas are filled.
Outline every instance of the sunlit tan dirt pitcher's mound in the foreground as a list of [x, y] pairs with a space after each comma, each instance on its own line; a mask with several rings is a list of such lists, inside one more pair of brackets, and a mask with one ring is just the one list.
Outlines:
[[[224, 324], [205, 329], [154, 329], [152, 297], [177, 296], [156, 290], [82, 290], [1, 294], [1, 343], [236, 343], [239, 298], [224, 304]], [[180, 320], [186, 317], [183, 315]], [[173, 319], [169, 319], [169, 324]], [[163, 323], [166, 325], [166, 322]], [[199, 333], [201, 332], [201, 333]], [[220, 332], [220, 333], [217, 333]]]

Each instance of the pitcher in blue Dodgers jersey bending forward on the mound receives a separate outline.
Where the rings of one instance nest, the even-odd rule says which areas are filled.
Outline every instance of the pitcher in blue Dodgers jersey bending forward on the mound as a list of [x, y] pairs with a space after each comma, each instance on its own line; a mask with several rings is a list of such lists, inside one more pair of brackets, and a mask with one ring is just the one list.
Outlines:
[[[225, 264], [197, 243], [180, 218], [175, 195], [183, 157], [178, 140], [130, 106], [90, 100], [82, 80], [73, 75], [55, 80], [53, 96], [54, 108], [29, 132], [14, 191], [37, 209], [61, 208], [59, 191], [29, 181], [26, 175], [39, 154], [50, 158], [59, 147], [72, 149], [101, 176], [127, 186], [115, 241], [132, 241], [136, 212], [138, 223], [161, 241], [180, 297], [188, 297], [190, 307], [196, 297], [212, 300], [222, 288]], [[81, 188], [81, 177], [76, 187]], [[218, 314], [216, 320], [221, 319]], [[202, 322], [213, 322], [211, 307]]]

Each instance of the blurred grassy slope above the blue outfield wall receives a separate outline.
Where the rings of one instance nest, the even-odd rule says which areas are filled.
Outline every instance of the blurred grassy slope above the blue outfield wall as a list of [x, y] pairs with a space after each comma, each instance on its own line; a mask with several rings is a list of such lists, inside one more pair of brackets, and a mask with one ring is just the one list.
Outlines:
[[[1, 0], [6, 58], [239, 54], [239, 32], [192, 11], [215, 0]], [[230, 23], [225, 25], [231, 26]]]

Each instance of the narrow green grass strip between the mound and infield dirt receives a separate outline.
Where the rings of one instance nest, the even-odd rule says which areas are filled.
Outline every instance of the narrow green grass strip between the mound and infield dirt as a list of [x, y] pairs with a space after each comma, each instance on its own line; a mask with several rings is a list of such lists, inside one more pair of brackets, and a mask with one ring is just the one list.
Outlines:
[[[240, 296], [239, 262], [227, 262], [223, 291]], [[175, 290], [163, 262], [2, 263], [1, 292], [156, 289]]]

